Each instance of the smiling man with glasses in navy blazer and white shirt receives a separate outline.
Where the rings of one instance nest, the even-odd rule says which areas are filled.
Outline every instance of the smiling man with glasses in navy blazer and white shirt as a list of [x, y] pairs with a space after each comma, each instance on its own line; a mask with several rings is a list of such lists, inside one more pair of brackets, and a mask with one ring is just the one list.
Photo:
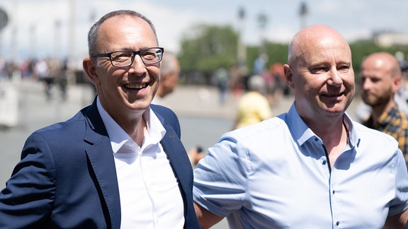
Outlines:
[[179, 120], [150, 104], [164, 52], [154, 26], [113, 11], [88, 42], [98, 95], [28, 137], [0, 194], [0, 228], [199, 228]]

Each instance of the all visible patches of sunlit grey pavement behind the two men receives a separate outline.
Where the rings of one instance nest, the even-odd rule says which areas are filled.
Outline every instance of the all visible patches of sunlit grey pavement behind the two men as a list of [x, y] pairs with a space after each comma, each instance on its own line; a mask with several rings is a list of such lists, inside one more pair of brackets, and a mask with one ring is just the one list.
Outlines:
[[[57, 88], [55, 88], [53, 100], [47, 101], [43, 85], [36, 81], [22, 81], [8, 85], [8, 87], [14, 88], [18, 93], [18, 122], [14, 127], [0, 128], [2, 158], [0, 160], [0, 189], [5, 187], [6, 180], [18, 163], [21, 148], [30, 133], [49, 124], [69, 119], [94, 99], [92, 88], [86, 85], [68, 86], [68, 97], [65, 101], [61, 100]], [[229, 94], [227, 102], [220, 104], [218, 95], [217, 88], [179, 86], [174, 93], [163, 100], [164, 105], [173, 109], [179, 116], [181, 140], [187, 150], [197, 145], [208, 148], [223, 133], [232, 128], [237, 109], [237, 98]], [[286, 112], [292, 102], [293, 98], [282, 98], [273, 105], [273, 113]], [[350, 110], [353, 110], [354, 107], [355, 105], [352, 105]], [[5, 111], [0, 110], [0, 112]], [[212, 228], [222, 229], [228, 226], [224, 220]]]

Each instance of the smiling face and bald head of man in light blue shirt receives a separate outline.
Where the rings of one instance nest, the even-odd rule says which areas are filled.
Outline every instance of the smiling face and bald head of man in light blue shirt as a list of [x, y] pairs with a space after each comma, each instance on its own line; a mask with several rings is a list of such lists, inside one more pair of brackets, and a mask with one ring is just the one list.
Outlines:
[[305, 29], [291, 45], [285, 74], [303, 119], [342, 117], [354, 96], [351, 50], [325, 26]]

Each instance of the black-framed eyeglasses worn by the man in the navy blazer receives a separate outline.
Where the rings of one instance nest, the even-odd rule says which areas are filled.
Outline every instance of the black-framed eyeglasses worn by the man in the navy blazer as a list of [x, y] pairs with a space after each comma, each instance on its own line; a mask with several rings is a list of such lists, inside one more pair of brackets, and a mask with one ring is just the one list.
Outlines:
[[109, 57], [113, 66], [124, 67], [130, 66], [135, 60], [135, 56], [139, 55], [142, 58], [143, 64], [156, 64], [162, 61], [164, 48], [151, 47], [147, 49], [140, 49], [139, 51], [115, 51], [105, 54], [96, 54], [94, 57]]

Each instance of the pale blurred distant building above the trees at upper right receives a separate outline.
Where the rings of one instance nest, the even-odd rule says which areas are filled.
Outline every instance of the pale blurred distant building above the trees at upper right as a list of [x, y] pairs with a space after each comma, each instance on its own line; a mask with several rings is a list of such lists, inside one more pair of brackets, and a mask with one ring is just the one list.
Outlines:
[[408, 45], [408, 34], [395, 31], [378, 31], [373, 33], [373, 40], [380, 47]]

